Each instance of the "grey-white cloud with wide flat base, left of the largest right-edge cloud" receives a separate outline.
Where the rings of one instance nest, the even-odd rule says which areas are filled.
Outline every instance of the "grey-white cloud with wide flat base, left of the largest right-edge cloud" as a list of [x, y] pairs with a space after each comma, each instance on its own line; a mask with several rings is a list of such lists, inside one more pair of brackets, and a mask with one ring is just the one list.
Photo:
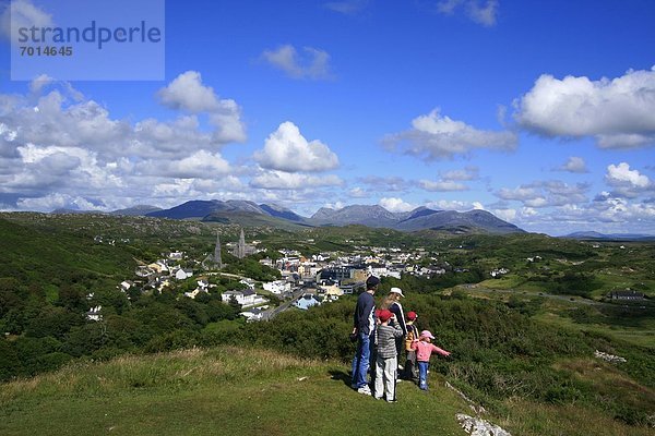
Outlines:
[[383, 144], [410, 156], [437, 160], [467, 155], [479, 148], [512, 150], [519, 142], [515, 133], [478, 130], [441, 116], [438, 109], [415, 118], [412, 126], [408, 131], [388, 135]]

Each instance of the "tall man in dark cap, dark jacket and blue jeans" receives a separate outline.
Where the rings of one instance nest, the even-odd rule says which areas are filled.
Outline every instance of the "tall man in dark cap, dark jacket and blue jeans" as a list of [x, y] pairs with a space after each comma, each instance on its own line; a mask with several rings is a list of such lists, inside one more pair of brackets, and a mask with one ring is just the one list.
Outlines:
[[373, 295], [379, 284], [380, 279], [376, 276], [366, 279], [366, 292], [357, 298], [353, 326], [353, 334], [357, 334], [357, 352], [353, 359], [353, 383], [350, 386], [353, 389], [357, 389], [359, 393], [368, 396], [371, 395], [371, 388], [368, 385], [368, 371], [376, 332], [376, 302]]

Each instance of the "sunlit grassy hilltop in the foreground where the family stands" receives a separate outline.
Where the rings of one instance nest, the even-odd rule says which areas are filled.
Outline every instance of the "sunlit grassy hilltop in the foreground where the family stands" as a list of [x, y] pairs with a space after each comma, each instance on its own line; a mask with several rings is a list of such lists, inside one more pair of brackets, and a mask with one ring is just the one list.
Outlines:
[[[584, 377], [599, 371], [599, 380], [616, 378], [607, 366], [568, 365]], [[0, 434], [378, 435], [400, 426], [466, 434], [455, 415], [471, 409], [438, 375], [431, 375], [429, 392], [401, 383], [398, 402], [386, 403], [352, 390], [346, 371], [338, 363], [237, 348], [78, 363], [0, 385]], [[514, 435], [652, 435], [571, 404], [509, 398], [504, 409], [502, 416], [483, 417]]]

